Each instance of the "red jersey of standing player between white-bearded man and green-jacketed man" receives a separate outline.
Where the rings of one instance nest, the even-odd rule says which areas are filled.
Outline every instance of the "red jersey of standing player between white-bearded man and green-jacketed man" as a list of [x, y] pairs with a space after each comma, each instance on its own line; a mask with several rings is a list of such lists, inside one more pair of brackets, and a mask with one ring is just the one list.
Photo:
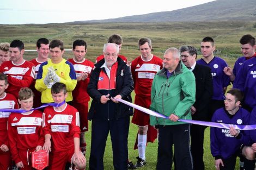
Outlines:
[[150, 96], [155, 74], [163, 67], [163, 60], [153, 55], [149, 61], [138, 56], [132, 61], [131, 72], [135, 84], [135, 93], [139, 96]]

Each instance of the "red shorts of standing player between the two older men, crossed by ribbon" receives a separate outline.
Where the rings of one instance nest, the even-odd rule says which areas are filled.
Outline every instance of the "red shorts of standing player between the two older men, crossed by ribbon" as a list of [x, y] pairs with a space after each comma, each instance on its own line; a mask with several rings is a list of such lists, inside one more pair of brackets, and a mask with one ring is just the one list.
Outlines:
[[[139, 106], [142, 106], [143, 108], [149, 109], [149, 106], [151, 104], [151, 98], [136, 95], [134, 103], [139, 105]], [[135, 109], [134, 110], [134, 115], [132, 117], [132, 123], [134, 123], [138, 126], [149, 125], [149, 115], [145, 114], [142, 111], [139, 111], [139, 110]]]

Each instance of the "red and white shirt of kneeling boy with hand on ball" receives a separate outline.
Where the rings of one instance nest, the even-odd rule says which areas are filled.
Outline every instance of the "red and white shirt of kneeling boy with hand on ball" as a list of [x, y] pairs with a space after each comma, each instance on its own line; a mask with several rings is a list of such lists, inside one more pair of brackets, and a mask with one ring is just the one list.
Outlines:
[[42, 114], [42, 119], [44, 135], [52, 136], [53, 152], [74, 148], [74, 138], [80, 138], [79, 112], [76, 108], [66, 104], [63, 110], [58, 111], [48, 106]]

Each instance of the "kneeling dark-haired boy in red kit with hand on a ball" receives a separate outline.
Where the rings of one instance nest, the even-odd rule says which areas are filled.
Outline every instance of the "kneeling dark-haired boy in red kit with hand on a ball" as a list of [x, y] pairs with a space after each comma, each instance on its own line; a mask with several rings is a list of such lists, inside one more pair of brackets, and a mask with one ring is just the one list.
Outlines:
[[55, 103], [64, 104], [58, 107], [48, 106], [42, 116], [45, 135], [44, 150], [51, 152], [48, 169], [65, 169], [67, 162], [74, 164], [75, 169], [85, 169], [86, 158], [79, 150], [79, 112], [65, 102], [68, 96], [65, 84], [55, 83], [51, 93]]

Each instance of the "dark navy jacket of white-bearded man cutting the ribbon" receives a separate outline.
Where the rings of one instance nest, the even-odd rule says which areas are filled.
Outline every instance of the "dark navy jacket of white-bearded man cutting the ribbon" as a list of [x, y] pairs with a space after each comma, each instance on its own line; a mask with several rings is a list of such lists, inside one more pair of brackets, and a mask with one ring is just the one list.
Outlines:
[[[125, 64], [123, 60], [119, 57], [117, 59], [118, 68], [116, 74], [116, 84], [115, 90], [112, 91], [110, 97], [115, 97], [121, 95], [123, 100], [127, 102], [132, 102], [131, 92], [133, 90], [133, 79], [130, 71], [130, 67]], [[123, 103], [114, 103], [112, 100], [108, 100], [106, 104], [100, 102], [102, 95], [107, 95], [102, 93], [102, 91], [97, 90], [97, 83], [99, 81], [99, 75], [101, 70], [105, 71], [105, 68], [100, 68], [105, 63], [105, 60], [101, 60], [95, 64], [95, 68], [90, 76], [90, 81], [87, 87], [87, 92], [90, 97], [93, 98], [90, 110], [88, 112], [88, 119], [93, 118], [109, 119], [107, 115], [114, 114], [114, 118], [121, 118], [133, 115], [132, 107]], [[105, 116], [103, 116], [105, 115]]]

